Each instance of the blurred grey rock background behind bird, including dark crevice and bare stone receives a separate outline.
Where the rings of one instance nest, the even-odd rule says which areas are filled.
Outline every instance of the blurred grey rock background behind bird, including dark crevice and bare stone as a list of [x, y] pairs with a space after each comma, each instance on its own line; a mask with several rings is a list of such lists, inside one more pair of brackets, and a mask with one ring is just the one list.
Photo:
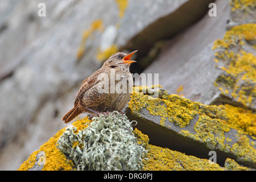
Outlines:
[[67, 126], [61, 118], [82, 80], [117, 51], [138, 49], [131, 72], [159, 73], [171, 93], [210, 104], [222, 72], [214, 69], [214, 40], [254, 21], [231, 15], [223, 0], [0, 0], [0, 170], [18, 169]]

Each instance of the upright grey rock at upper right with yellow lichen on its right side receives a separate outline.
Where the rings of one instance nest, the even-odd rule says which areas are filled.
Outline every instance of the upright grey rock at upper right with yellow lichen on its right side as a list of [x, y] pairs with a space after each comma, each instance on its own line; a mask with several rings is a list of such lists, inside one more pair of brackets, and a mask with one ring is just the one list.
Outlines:
[[255, 110], [255, 1], [214, 3], [217, 16], [165, 43], [144, 73], [159, 73], [160, 85], [189, 100]]

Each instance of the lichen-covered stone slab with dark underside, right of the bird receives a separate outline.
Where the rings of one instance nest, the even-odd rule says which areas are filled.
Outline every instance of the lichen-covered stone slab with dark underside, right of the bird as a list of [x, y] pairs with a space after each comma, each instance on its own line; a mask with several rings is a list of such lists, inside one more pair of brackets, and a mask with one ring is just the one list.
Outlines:
[[[127, 116], [138, 122], [152, 144], [209, 158], [217, 152], [217, 163], [226, 158], [256, 168], [256, 114], [231, 105], [204, 105], [159, 89], [159, 97], [135, 88]], [[149, 88], [150, 89], [150, 88]], [[154, 86], [156, 89], [156, 86]]]

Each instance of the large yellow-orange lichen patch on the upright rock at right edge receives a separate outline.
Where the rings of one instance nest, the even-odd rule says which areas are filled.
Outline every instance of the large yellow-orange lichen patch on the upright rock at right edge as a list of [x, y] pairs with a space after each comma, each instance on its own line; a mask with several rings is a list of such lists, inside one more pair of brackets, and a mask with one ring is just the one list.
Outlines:
[[256, 56], [246, 50], [255, 49], [256, 24], [242, 24], [227, 31], [223, 39], [214, 42], [216, 64], [224, 74], [214, 82], [222, 95], [233, 97], [245, 107], [250, 107], [256, 98]]

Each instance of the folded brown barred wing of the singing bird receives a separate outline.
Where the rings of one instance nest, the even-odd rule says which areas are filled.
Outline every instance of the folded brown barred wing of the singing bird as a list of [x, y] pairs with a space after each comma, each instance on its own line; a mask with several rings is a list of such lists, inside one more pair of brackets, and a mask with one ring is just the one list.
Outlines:
[[81, 88], [79, 89], [79, 92], [77, 93], [77, 96], [75, 98], [75, 106], [79, 103], [79, 100], [82, 98], [87, 90], [92, 88], [93, 85], [96, 85], [98, 82], [100, 82], [100, 80], [97, 79], [96, 75], [97, 71], [82, 82]]

